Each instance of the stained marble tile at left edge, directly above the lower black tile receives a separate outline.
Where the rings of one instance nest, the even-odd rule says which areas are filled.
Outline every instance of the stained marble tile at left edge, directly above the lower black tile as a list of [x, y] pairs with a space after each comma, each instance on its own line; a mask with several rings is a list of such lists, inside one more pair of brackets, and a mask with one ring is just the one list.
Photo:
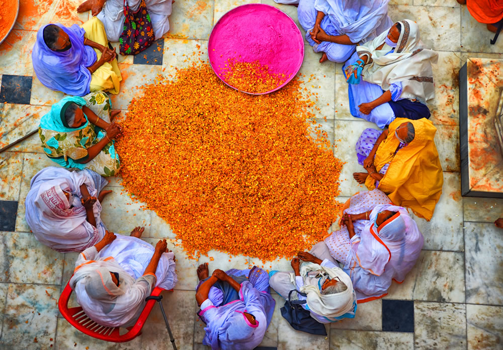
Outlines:
[[18, 200], [21, 188], [23, 155], [15, 152], [0, 154], [0, 200]]

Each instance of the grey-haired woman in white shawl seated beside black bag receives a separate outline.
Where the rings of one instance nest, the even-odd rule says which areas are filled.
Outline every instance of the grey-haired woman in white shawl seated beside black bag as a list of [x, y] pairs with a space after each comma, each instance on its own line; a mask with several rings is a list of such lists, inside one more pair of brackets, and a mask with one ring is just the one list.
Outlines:
[[[301, 266], [299, 259], [306, 263]], [[307, 297], [295, 294], [299, 300], [307, 300], [301, 304], [302, 307], [320, 323], [354, 318], [356, 294], [351, 279], [336, 264], [326, 245], [319, 242], [310, 253], [299, 253], [298, 258], [292, 260], [294, 274], [271, 271], [269, 283], [284, 299], [288, 298], [291, 290], [306, 293]]]

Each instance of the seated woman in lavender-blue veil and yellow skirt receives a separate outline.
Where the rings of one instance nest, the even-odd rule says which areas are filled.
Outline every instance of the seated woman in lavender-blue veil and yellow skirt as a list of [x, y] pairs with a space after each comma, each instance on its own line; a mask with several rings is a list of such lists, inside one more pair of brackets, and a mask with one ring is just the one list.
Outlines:
[[51, 90], [73, 96], [119, 93], [122, 76], [117, 54], [109, 48], [103, 24], [96, 17], [81, 26], [40, 28], [32, 61], [37, 78]]

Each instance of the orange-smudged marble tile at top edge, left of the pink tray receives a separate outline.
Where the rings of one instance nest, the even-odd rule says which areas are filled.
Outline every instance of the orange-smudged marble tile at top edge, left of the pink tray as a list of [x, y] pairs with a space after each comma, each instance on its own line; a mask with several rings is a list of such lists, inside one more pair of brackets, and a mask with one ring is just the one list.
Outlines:
[[170, 31], [164, 38], [206, 39], [213, 26], [213, 1], [179, 0], [173, 4]]

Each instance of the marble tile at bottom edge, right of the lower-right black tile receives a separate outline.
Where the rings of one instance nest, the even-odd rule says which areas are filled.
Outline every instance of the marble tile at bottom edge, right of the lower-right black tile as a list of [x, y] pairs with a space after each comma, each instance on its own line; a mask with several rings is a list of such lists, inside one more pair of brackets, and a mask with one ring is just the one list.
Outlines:
[[414, 349], [466, 349], [464, 304], [414, 302]]

